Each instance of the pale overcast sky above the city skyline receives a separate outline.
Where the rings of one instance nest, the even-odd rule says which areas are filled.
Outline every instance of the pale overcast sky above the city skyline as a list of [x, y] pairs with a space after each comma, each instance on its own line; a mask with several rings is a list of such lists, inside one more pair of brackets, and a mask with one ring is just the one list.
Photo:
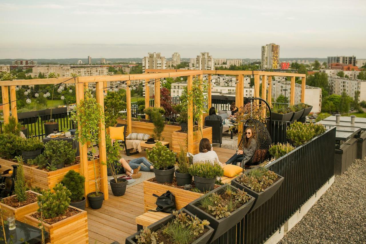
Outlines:
[[366, 1], [0, 0], [0, 59], [366, 58]]

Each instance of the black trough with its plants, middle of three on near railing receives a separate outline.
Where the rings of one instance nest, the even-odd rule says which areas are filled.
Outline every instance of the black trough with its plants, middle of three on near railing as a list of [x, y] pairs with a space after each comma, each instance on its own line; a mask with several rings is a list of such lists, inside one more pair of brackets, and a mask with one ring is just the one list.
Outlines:
[[225, 184], [189, 203], [188, 211], [210, 222], [213, 241], [240, 222], [253, 203], [247, 192]]

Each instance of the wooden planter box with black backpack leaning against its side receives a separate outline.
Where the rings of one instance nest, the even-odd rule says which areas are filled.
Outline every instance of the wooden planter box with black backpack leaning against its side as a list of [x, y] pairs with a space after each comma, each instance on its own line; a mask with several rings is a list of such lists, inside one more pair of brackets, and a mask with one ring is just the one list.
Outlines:
[[188, 203], [203, 196], [202, 193], [191, 192], [172, 186], [162, 185], [151, 181], [143, 182], [143, 203], [145, 212], [156, 209], [156, 197], [153, 194], [161, 196], [163, 193], [170, 191], [175, 196], [175, 205], [177, 210], [185, 207]]

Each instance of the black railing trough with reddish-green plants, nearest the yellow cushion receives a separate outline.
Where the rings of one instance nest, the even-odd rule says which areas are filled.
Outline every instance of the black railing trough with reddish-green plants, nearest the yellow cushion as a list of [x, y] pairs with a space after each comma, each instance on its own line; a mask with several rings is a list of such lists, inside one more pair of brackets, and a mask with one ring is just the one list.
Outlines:
[[251, 211], [269, 200], [282, 185], [284, 178], [264, 167], [245, 172], [231, 181], [231, 185], [246, 191], [255, 197]]

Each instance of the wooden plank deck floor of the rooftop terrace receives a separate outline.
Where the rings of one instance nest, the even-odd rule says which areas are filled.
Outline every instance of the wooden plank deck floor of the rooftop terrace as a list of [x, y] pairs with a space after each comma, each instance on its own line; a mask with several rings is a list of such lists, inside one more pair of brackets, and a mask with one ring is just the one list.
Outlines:
[[[214, 147], [220, 162], [224, 163], [234, 150]], [[123, 154], [125, 155], [125, 154]], [[134, 158], [146, 156], [145, 152], [132, 155]], [[143, 214], [143, 184], [126, 189], [123, 196], [113, 196], [110, 186], [109, 199], [103, 202], [102, 208], [93, 210], [86, 208], [88, 213], [89, 243], [125, 242], [125, 238], [137, 232], [135, 218]]]

